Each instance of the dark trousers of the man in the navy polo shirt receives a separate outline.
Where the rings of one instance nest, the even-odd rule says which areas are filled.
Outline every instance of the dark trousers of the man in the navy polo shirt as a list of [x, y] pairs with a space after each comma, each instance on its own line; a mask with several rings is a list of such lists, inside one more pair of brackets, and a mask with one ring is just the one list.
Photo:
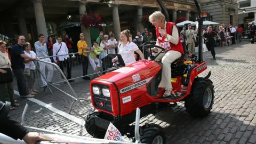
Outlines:
[[13, 69], [12, 71], [17, 79], [17, 86], [18, 86], [20, 96], [28, 95], [29, 90], [28, 90], [27, 79], [24, 75], [24, 70], [23, 69]]

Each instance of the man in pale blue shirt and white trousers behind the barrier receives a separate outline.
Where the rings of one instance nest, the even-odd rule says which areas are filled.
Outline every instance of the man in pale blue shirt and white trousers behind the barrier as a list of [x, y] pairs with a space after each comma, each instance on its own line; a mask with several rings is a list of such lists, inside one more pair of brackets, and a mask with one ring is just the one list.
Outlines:
[[[40, 59], [40, 60], [46, 61], [46, 62], [52, 62], [50, 58], [45, 58], [45, 57], [48, 57], [49, 54], [48, 54], [48, 50], [47, 50], [47, 46], [46, 46], [43, 34], [38, 35], [38, 41], [35, 42], [35, 48], [36, 48], [37, 57], [38, 58], [44, 58], [44, 59]], [[49, 65], [45, 62], [40, 62], [40, 61], [39, 61], [39, 66], [40, 66], [40, 73], [41, 73], [42, 83], [43, 83], [44, 86], [46, 86], [47, 85], [46, 81], [48, 83], [52, 82], [53, 67], [52, 67], [52, 65]], [[48, 70], [47, 77], [45, 75], [45, 71], [46, 71], [45, 67]]]

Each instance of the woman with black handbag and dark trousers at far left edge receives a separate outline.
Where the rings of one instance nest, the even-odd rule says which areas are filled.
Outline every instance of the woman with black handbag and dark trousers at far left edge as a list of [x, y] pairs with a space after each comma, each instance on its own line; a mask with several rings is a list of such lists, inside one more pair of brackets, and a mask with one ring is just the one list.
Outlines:
[[14, 100], [11, 61], [5, 49], [6, 43], [0, 41], [0, 100], [5, 102], [5, 97], [8, 97], [11, 102], [10, 110], [13, 110], [14, 107], [18, 107], [20, 104], [15, 103]]

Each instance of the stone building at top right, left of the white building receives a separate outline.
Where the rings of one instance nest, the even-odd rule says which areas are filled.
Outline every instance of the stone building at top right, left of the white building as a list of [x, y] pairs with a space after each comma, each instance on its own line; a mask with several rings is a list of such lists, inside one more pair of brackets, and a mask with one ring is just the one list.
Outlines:
[[218, 23], [238, 25], [237, 0], [199, 0], [204, 19]]

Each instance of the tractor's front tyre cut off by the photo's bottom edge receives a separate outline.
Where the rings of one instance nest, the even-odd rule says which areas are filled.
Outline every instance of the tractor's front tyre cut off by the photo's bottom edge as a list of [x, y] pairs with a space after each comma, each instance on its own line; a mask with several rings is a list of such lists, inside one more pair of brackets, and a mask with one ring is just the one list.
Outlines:
[[140, 133], [141, 143], [149, 144], [165, 144], [166, 138], [163, 132], [163, 128], [156, 124], [146, 124], [141, 127]]

